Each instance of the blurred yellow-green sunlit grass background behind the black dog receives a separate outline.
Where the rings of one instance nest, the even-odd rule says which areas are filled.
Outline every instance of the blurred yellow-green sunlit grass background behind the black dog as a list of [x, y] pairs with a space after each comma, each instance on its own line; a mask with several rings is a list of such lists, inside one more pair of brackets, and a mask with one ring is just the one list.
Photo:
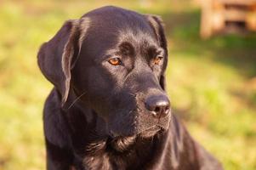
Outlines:
[[53, 86], [38, 48], [65, 20], [110, 4], [162, 16], [175, 114], [225, 169], [256, 169], [256, 35], [203, 36], [196, 0], [0, 1], [0, 169], [45, 169], [42, 112]]

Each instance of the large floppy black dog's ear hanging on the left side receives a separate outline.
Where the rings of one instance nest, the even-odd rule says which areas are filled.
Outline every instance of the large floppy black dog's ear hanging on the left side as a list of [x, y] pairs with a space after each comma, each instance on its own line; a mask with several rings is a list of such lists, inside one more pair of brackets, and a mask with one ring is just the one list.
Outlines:
[[37, 62], [43, 75], [61, 94], [64, 105], [71, 84], [71, 68], [80, 52], [85, 36], [87, 20], [67, 20], [60, 31], [44, 42], [37, 54]]

